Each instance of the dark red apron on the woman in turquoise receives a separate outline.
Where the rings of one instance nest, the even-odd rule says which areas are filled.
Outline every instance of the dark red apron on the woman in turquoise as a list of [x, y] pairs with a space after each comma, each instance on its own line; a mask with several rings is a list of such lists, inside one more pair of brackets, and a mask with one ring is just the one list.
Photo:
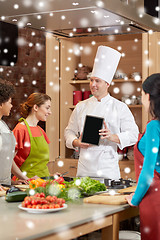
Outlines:
[[[139, 135], [138, 141], [142, 134]], [[134, 147], [136, 181], [143, 166], [144, 156]], [[160, 174], [154, 170], [154, 178], [147, 193], [139, 204], [141, 240], [160, 240]]]

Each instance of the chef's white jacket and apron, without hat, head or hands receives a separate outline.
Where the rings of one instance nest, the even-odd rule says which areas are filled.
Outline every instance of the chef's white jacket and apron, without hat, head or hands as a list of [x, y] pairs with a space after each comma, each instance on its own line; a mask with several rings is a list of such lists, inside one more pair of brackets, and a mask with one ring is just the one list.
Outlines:
[[120, 149], [134, 145], [138, 139], [138, 127], [127, 105], [108, 94], [99, 102], [94, 96], [78, 103], [65, 129], [68, 148], [82, 133], [86, 115], [103, 117], [112, 134], [117, 134], [120, 144], [101, 139], [99, 146], [91, 145], [80, 149], [77, 176], [119, 179], [117, 146]]

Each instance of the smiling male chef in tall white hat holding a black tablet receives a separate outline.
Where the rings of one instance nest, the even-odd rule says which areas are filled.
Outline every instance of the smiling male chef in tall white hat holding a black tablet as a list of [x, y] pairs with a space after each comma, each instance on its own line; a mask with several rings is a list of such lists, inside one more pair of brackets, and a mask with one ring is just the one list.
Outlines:
[[[80, 149], [77, 176], [118, 180], [117, 147], [134, 145], [138, 139], [139, 131], [131, 111], [108, 93], [120, 57], [121, 54], [110, 47], [98, 47], [90, 78], [93, 96], [76, 105], [65, 129], [66, 146]], [[81, 142], [86, 115], [104, 118], [98, 146]]]

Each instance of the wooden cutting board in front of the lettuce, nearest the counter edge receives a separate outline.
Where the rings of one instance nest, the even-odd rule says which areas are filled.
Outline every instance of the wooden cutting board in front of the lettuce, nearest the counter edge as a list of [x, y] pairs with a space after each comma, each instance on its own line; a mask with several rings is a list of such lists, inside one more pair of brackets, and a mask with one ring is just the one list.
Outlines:
[[99, 203], [108, 205], [122, 205], [126, 204], [127, 200], [125, 197], [128, 195], [94, 195], [83, 199], [84, 203]]

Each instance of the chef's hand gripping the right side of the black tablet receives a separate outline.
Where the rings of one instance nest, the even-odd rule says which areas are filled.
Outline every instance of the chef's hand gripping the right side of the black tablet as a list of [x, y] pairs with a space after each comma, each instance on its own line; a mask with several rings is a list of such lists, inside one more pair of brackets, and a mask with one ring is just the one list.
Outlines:
[[119, 137], [116, 134], [111, 133], [105, 121], [103, 122], [103, 124], [104, 124], [104, 128], [99, 130], [99, 135], [101, 136], [101, 139], [107, 139], [109, 141], [120, 144]]

